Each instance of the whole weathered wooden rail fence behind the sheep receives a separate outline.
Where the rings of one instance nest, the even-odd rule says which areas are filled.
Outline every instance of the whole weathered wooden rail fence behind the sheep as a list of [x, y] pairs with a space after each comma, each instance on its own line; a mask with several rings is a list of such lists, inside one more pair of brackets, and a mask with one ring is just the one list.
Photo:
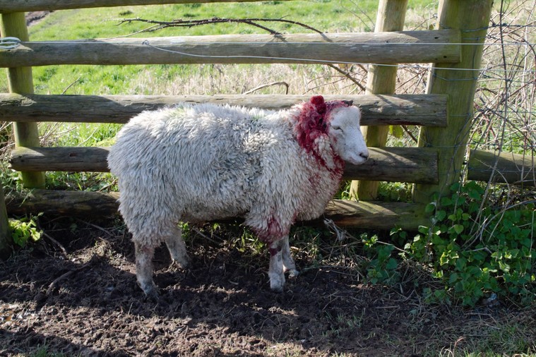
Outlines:
[[[125, 123], [140, 111], [175, 102], [230, 103], [274, 109], [289, 107], [306, 99], [293, 95], [34, 95], [32, 66], [431, 62], [434, 63], [434, 70], [429, 78], [427, 95], [394, 95], [396, 68], [371, 66], [367, 95], [344, 97], [354, 99], [362, 107], [362, 124], [368, 126], [367, 142], [371, 146], [369, 161], [359, 167], [348, 165], [345, 178], [415, 183], [415, 202], [374, 202], [374, 183], [360, 183], [352, 186], [352, 190], [361, 201], [334, 200], [326, 208], [326, 217], [341, 226], [371, 229], [400, 226], [415, 229], [419, 224], [427, 224], [424, 205], [429, 202], [432, 193], [441, 193], [450, 186], [449, 183], [457, 181], [463, 167], [468, 135], [460, 133], [468, 133], [463, 128], [467, 128], [472, 116], [482, 42], [492, 0], [443, 0], [439, 8], [441, 29], [425, 31], [400, 31], [407, 0], [382, 0], [374, 33], [323, 35], [220, 35], [32, 42], [28, 39], [23, 16], [24, 11], [36, 10], [218, 1], [0, 0], [2, 36], [21, 40], [11, 49], [0, 49], [0, 66], [8, 68], [10, 85], [10, 93], [0, 94], [0, 118], [14, 122], [16, 149], [13, 150], [11, 164], [23, 173], [25, 185], [42, 188], [42, 171], [107, 171], [106, 147], [38, 147], [36, 121]], [[465, 39], [463, 34], [467, 31], [471, 31], [471, 36]], [[330, 45], [326, 46], [326, 43]], [[186, 52], [193, 56], [186, 55]], [[136, 55], [133, 56], [133, 53]], [[251, 56], [252, 53], [254, 56]], [[330, 99], [333, 96], [325, 97]], [[384, 147], [385, 126], [396, 124], [422, 126], [419, 147]], [[499, 169], [499, 173], [492, 170], [497, 159], [506, 163], [504, 170]], [[534, 185], [532, 162], [516, 155], [498, 158], [494, 154], [472, 152], [468, 177], [520, 183], [525, 181], [525, 177], [521, 176], [520, 172], [523, 171], [518, 169], [519, 166], [525, 167], [525, 173], [532, 172], [532, 178], [525, 184]], [[9, 195], [6, 204], [10, 214], [114, 214], [117, 212], [117, 194], [37, 189], [24, 197]], [[0, 218], [4, 219], [1, 210]]]

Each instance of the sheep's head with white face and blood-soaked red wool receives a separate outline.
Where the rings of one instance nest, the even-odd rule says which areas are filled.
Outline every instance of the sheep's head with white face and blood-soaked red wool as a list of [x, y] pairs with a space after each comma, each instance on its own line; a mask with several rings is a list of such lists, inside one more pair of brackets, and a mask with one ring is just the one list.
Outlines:
[[[297, 140], [308, 152], [318, 154], [318, 143], [328, 138], [335, 155], [351, 164], [362, 164], [369, 151], [359, 128], [361, 111], [352, 102], [325, 102], [321, 95], [303, 104], [296, 126]], [[320, 159], [318, 155], [315, 155]]]

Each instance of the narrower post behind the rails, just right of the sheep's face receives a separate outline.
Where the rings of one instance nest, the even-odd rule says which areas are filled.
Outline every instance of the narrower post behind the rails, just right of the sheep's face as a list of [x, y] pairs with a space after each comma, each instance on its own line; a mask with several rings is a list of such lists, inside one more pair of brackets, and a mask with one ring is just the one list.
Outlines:
[[[374, 32], [404, 30], [407, 0], [381, 0], [378, 5]], [[393, 94], [396, 84], [396, 66], [369, 66], [365, 94]], [[386, 145], [388, 126], [362, 126], [367, 146]], [[350, 197], [359, 200], [374, 200], [378, 195], [379, 181], [352, 181]]]

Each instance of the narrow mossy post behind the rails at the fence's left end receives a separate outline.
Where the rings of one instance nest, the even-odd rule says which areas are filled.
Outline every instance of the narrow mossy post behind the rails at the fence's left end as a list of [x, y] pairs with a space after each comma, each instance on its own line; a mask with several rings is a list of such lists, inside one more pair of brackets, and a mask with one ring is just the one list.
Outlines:
[[[4, 13], [0, 16], [0, 32], [4, 37], [17, 37], [28, 41], [28, 28], [24, 13]], [[8, 68], [9, 91], [20, 94], [33, 93], [31, 67]], [[13, 123], [16, 146], [39, 146], [37, 123]], [[44, 188], [44, 173], [22, 172], [24, 186], [28, 188]]]

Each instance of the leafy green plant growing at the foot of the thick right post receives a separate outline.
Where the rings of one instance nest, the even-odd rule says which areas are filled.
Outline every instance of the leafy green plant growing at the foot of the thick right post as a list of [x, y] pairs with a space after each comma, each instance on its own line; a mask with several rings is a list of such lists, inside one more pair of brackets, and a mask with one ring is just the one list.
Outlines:
[[[410, 258], [429, 265], [464, 305], [475, 305], [484, 294], [493, 293], [533, 301], [535, 205], [493, 205], [485, 197], [479, 183], [456, 183], [449, 197], [427, 205], [427, 212], [433, 214], [431, 225], [420, 226], [405, 250]], [[406, 234], [397, 229], [391, 233]], [[445, 300], [445, 291], [427, 291], [428, 298], [434, 296]]]

